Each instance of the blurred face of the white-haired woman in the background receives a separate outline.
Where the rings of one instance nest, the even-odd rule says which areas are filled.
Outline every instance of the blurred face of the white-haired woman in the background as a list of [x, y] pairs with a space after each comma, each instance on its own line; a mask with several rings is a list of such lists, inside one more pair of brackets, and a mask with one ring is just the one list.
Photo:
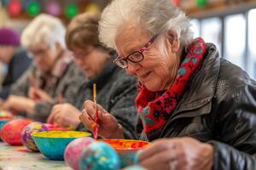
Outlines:
[[61, 53], [57, 48], [50, 48], [45, 43], [33, 45], [29, 48], [29, 51], [38, 69], [44, 73], [51, 70], [55, 65], [55, 59]]

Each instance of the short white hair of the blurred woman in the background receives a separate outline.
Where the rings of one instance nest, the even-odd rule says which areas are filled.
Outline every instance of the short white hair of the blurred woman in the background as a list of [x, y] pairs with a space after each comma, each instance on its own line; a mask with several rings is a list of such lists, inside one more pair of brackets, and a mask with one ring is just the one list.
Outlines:
[[61, 48], [66, 48], [65, 32], [66, 28], [61, 20], [49, 14], [39, 14], [22, 32], [21, 44], [29, 48], [34, 44], [45, 42], [53, 48], [55, 42], [59, 42]]

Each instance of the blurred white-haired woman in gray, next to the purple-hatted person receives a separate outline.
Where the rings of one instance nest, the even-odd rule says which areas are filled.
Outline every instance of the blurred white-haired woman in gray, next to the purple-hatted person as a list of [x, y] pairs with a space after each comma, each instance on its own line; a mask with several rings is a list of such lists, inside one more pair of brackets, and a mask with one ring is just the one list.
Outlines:
[[48, 14], [38, 15], [26, 27], [21, 43], [34, 65], [12, 86], [4, 109], [45, 122], [53, 105], [75, 98], [86, 79], [67, 53], [65, 32], [61, 20]]

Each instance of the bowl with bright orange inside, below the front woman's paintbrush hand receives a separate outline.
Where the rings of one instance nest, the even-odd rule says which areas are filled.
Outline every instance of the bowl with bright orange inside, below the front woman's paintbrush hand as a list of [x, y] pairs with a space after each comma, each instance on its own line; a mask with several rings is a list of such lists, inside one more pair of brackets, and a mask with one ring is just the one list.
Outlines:
[[137, 163], [137, 151], [149, 144], [146, 141], [130, 139], [100, 139], [100, 141], [107, 142], [117, 151], [121, 160], [121, 167]]

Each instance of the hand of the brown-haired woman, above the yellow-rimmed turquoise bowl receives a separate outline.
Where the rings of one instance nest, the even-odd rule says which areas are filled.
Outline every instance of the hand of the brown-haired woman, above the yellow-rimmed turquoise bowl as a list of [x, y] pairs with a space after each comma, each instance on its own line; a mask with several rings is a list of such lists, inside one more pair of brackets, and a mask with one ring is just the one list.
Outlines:
[[70, 104], [55, 105], [47, 119], [48, 123], [75, 129], [79, 125], [81, 111]]

